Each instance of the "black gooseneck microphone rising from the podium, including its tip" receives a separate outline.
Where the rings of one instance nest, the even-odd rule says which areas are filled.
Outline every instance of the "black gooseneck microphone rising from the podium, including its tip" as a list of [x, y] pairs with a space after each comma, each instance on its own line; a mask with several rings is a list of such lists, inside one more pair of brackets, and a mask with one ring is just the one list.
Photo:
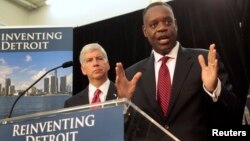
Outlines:
[[11, 107], [11, 110], [10, 110], [10, 113], [8, 114], [7, 118], [11, 118], [12, 116], [12, 112], [13, 112], [13, 109], [17, 103], [17, 101], [30, 89], [32, 88], [37, 82], [39, 82], [45, 75], [47, 75], [49, 72], [53, 71], [53, 70], [56, 70], [58, 68], [68, 68], [68, 67], [71, 67], [73, 66], [73, 61], [68, 61], [68, 62], [64, 62], [62, 65], [60, 66], [57, 66], [55, 68], [52, 68], [50, 69], [49, 71], [47, 71], [45, 74], [43, 74], [39, 79], [37, 79], [33, 84], [31, 84], [25, 91], [23, 91], [18, 97], [17, 99], [15, 100], [15, 102], [13, 103], [12, 107]]

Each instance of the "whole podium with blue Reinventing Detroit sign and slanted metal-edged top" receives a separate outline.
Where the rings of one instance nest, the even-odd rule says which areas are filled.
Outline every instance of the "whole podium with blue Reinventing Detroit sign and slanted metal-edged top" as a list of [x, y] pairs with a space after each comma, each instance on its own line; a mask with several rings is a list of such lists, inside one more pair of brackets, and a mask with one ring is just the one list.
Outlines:
[[179, 141], [127, 99], [0, 120], [1, 141]]

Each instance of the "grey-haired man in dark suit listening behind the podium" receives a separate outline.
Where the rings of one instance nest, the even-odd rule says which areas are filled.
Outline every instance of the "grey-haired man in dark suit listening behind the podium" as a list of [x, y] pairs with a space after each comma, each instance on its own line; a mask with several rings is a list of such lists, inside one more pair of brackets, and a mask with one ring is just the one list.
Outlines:
[[[64, 107], [104, 102], [116, 98], [115, 84], [109, 80], [110, 69], [106, 51], [98, 43], [85, 45], [80, 53], [81, 71], [89, 80], [89, 85], [81, 92], [65, 101]], [[96, 92], [99, 91], [97, 94]]]

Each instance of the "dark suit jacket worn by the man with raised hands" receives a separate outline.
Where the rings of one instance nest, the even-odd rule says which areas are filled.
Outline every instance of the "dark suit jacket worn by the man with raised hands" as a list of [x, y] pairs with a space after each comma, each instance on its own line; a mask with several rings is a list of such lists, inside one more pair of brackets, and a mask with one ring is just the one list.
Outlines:
[[[222, 91], [219, 100], [214, 103], [211, 97], [205, 93], [201, 80], [201, 68], [198, 62], [199, 54], [203, 54], [207, 58], [208, 51], [185, 49], [180, 46], [171, 88], [169, 116], [167, 118], [164, 118], [156, 101], [154, 55], [126, 69], [129, 80], [132, 79], [136, 72], [142, 72], [132, 102], [183, 141], [207, 140], [207, 136], [211, 136], [209, 125], [222, 124], [221, 122], [228, 118], [226, 116], [229, 113], [236, 112], [239, 106], [238, 97], [231, 91], [232, 86], [228, 83], [227, 74], [221, 62], [219, 64], [219, 79], [222, 82]], [[231, 123], [225, 124], [230, 125]], [[143, 127], [145, 124], [141, 121], [138, 125], [133, 123], [130, 126], [135, 126], [135, 132], [145, 128]], [[135, 133], [133, 132], [133, 134]], [[138, 133], [135, 136], [144, 135]], [[152, 138], [152, 140], [157, 141], [166, 140], [159, 135], [153, 135]]]

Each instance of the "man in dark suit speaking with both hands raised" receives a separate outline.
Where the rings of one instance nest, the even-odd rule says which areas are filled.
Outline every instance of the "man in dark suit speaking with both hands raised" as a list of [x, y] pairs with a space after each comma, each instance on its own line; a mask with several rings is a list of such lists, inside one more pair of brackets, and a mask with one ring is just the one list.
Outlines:
[[[223, 123], [223, 120], [234, 119], [239, 98], [232, 92], [232, 85], [217, 57], [215, 44], [211, 44], [209, 50], [182, 47], [177, 41], [178, 28], [172, 8], [162, 2], [152, 3], [145, 8], [142, 29], [152, 46], [152, 54], [125, 72], [122, 64], [117, 63], [116, 86], [119, 97], [131, 99], [184, 141], [205, 141], [212, 134], [210, 126], [233, 124]], [[169, 58], [166, 65], [171, 79], [167, 114], [163, 113], [159, 104], [157, 91], [158, 72], [164, 56]], [[232, 117], [226, 117], [228, 115]], [[150, 133], [153, 132], [143, 131], [142, 122], [135, 123], [128, 124], [134, 126], [134, 132], [131, 132], [133, 137], [128, 137], [131, 140], [144, 137], [145, 140], [167, 140], [157, 132], [152, 135]]]

